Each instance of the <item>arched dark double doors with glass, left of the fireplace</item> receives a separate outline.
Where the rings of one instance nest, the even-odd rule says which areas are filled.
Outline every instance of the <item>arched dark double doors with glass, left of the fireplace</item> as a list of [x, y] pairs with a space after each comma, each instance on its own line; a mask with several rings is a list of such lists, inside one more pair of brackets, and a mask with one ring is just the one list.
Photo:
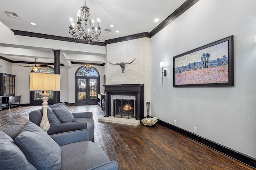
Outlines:
[[75, 75], [75, 105], [98, 104], [99, 84], [98, 70], [93, 68], [88, 72], [84, 66], [78, 68]]

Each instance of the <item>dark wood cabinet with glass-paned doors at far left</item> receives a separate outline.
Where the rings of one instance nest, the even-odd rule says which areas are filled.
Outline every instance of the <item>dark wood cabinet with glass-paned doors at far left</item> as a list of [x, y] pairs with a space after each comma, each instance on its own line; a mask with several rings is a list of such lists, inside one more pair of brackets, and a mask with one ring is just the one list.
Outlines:
[[15, 95], [15, 75], [0, 73], [1, 75], [1, 89], [0, 96], [14, 96]]

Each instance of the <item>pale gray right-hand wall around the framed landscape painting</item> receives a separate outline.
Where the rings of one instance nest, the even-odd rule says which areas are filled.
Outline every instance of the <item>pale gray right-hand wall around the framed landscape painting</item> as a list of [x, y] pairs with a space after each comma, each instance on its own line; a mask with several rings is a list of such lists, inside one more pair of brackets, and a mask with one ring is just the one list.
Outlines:
[[[256, 158], [256, 1], [200, 0], [151, 38], [152, 114]], [[173, 88], [173, 57], [234, 35], [234, 87]], [[166, 62], [167, 76], [160, 61]], [[157, 64], [156, 64], [157, 63]]]

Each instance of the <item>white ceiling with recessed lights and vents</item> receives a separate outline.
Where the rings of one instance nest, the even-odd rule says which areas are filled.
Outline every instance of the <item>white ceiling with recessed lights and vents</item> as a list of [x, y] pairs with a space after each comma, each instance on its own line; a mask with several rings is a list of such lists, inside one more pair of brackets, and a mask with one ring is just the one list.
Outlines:
[[[150, 32], [186, 0], [86, 0], [90, 17], [100, 19], [100, 42], [142, 32]], [[0, 21], [9, 29], [71, 37], [70, 18], [76, 20], [84, 0], [0, 0]], [[4, 11], [15, 12], [20, 19], [11, 18]], [[158, 22], [154, 22], [159, 18]], [[30, 22], [36, 23], [31, 25]], [[110, 27], [114, 24], [114, 27]], [[104, 29], [112, 29], [105, 33]], [[116, 33], [116, 30], [119, 32]], [[1, 55], [12, 61], [34, 62], [33, 56]], [[39, 63], [53, 63], [53, 59], [39, 58]], [[96, 61], [95, 61], [96, 62]]]

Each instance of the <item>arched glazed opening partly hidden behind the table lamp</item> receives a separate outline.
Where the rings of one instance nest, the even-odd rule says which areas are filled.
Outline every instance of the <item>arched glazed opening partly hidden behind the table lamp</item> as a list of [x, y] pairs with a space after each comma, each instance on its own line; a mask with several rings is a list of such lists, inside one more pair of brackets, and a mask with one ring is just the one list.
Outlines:
[[[38, 70], [31, 70], [31, 72], [48, 72], [53, 74], [54, 73], [54, 69], [51, 66], [47, 66], [47, 65], [40, 65], [44, 68], [38, 68]], [[40, 106], [42, 105], [42, 98], [40, 96], [40, 93], [44, 93], [43, 91], [30, 91], [30, 106]], [[47, 91], [47, 93], [50, 93], [49, 99], [48, 99], [48, 104], [53, 104], [53, 91]]]

